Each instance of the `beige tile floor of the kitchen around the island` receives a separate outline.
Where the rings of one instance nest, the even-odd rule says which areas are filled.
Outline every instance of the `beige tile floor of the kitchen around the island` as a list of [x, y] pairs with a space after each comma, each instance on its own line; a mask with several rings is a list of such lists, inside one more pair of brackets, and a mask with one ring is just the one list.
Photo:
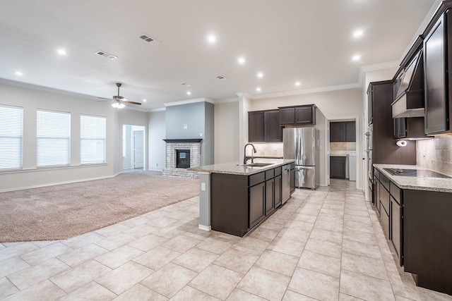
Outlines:
[[452, 300], [396, 266], [355, 182], [296, 190], [246, 238], [198, 198], [69, 240], [0, 244], [0, 300]]

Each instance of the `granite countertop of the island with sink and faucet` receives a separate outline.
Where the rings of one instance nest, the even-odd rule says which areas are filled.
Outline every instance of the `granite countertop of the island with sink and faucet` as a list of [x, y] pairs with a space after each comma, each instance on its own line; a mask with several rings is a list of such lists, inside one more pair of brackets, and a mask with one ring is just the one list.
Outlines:
[[[268, 163], [270, 165], [264, 167], [250, 167], [243, 166], [242, 161], [234, 161], [224, 164], [191, 167], [189, 168], [189, 171], [198, 171], [200, 173], [228, 173], [231, 175], [250, 176], [254, 173], [261, 173], [262, 171], [267, 171], [268, 169], [272, 169], [285, 164], [290, 164], [292, 162], [295, 162], [295, 160], [255, 158], [254, 163]], [[250, 164], [251, 160], [248, 160], [247, 163]]]

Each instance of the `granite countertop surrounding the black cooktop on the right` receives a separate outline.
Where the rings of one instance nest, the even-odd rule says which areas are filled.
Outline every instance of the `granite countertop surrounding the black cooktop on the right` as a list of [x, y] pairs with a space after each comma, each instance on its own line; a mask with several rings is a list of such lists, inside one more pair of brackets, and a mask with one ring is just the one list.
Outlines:
[[438, 192], [452, 192], [452, 178], [421, 178], [410, 176], [393, 176], [384, 168], [396, 168], [396, 169], [424, 169], [418, 165], [399, 165], [399, 164], [374, 164], [374, 167], [378, 169], [383, 175], [389, 178], [393, 183], [401, 189], [410, 190], [429, 190]]

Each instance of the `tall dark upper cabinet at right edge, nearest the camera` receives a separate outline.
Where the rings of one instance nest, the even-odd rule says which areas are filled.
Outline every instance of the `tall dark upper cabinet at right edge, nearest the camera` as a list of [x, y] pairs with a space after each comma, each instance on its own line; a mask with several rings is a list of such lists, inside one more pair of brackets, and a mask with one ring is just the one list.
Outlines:
[[[451, 11], [447, 10], [434, 23], [424, 39], [425, 133], [427, 135], [451, 132], [451, 78], [452, 70]], [[451, 90], [452, 91], [452, 90]]]

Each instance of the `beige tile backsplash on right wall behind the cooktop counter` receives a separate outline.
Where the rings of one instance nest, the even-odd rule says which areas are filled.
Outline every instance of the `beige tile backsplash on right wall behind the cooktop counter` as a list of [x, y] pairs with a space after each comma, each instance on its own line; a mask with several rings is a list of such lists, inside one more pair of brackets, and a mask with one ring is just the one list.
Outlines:
[[452, 176], [452, 136], [416, 142], [417, 165]]

